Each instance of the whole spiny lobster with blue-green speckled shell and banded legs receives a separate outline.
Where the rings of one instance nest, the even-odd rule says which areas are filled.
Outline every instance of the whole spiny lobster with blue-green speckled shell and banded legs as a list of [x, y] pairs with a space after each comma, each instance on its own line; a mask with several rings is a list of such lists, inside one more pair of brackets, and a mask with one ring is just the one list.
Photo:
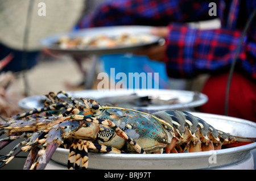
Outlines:
[[[67, 98], [59, 98], [59, 94]], [[44, 107], [0, 121], [0, 149], [24, 138], [9, 154], [5, 166], [21, 151], [29, 151], [23, 169], [44, 169], [58, 147], [69, 149], [68, 169], [87, 169], [88, 151], [163, 154], [218, 150], [250, 144], [256, 138], [238, 137], [213, 128], [183, 111], [144, 113], [102, 106], [96, 100], [75, 99], [65, 91], [49, 92]], [[15, 150], [22, 146], [18, 151]]]

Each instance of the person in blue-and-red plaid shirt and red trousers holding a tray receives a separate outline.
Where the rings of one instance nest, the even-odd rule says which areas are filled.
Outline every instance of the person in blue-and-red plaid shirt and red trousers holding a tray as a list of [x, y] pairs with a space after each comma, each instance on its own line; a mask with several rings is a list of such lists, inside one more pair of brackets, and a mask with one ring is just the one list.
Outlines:
[[[217, 5], [217, 16], [210, 16], [210, 2]], [[243, 28], [256, 1], [189, 0], [114, 0], [106, 1], [79, 22], [80, 28], [145, 25], [155, 26], [152, 33], [164, 36], [164, 46], [152, 47], [144, 54], [166, 62], [167, 73], [174, 78], [195, 78], [209, 73], [203, 93], [209, 101], [202, 112], [224, 114], [228, 73]], [[199, 30], [187, 23], [219, 18], [221, 28]], [[232, 77], [229, 116], [256, 121], [256, 18], [251, 22]]]

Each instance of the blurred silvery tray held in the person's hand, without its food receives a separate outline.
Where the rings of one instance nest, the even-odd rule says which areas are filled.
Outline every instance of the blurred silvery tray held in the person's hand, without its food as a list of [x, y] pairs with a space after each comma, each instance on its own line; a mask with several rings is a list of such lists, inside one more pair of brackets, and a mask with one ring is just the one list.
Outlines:
[[[129, 53], [134, 50], [141, 48], [146, 48], [150, 45], [164, 44], [164, 39], [159, 36], [154, 36], [150, 34], [150, 26], [111, 26], [111, 27], [96, 27], [96, 28], [86, 28], [84, 30], [60, 33], [57, 35], [49, 36], [41, 40], [43, 47], [46, 47], [50, 50], [60, 53], [70, 53], [70, 54], [108, 54], [108, 53]], [[139, 35], [142, 33], [147, 33], [151, 41], [148, 43], [141, 43], [135, 45], [122, 45], [114, 48], [75, 48], [75, 49], [61, 49], [56, 42], [59, 40], [60, 36], [67, 35], [68, 37], [82, 37], [82, 36], [97, 36], [97, 35], [106, 35], [106, 36], [118, 36], [122, 33], [129, 33], [133, 35]]]

